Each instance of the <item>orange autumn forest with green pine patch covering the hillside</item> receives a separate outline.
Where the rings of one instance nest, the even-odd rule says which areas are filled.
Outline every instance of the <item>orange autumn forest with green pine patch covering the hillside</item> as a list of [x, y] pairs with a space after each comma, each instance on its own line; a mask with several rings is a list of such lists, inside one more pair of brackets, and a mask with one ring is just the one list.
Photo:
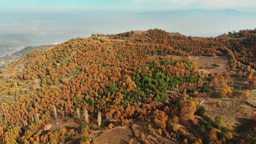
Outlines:
[[[236, 125], [221, 126], [223, 115], [212, 119], [200, 103], [210, 96], [220, 101], [236, 97], [244, 104], [249, 90], [256, 88], [256, 73], [250, 69], [256, 66], [255, 30], [232, 37], [198, 38], [150, 29], [93, 34], [49, 50], [32, 50], [0, 69], [0, 143], [84, 144], [90, 138], [100, 143], [97, 130], [118, 127], [133, 131], [123, 142], [129, 144], [255, 142], [253, 126], [245, 125], [242, 132]], [[152, 58], [156, 55], [158, 59]], [[189, 59], [220, 55], [228, 56], [230, 66], [222, 73], [204, 72]], [[246, 86], [236, 87], [232, 78], [246, 81]], [[241, 118], [253, 123], [254, 115]], [[138, 123], [143, 125], [139, 136], [134, 127]], [[46, 124], [56, 127], [43, 131]]]

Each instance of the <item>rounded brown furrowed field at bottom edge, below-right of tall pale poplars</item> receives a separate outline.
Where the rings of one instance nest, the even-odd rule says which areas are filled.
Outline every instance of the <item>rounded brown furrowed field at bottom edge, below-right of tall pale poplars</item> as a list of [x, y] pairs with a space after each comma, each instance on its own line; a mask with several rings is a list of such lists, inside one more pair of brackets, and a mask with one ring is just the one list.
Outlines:
[[127, 144], [134, 138], [132, 130], [128, 126], [122, 126], [107, 130], [94, 139], [95, 144]]

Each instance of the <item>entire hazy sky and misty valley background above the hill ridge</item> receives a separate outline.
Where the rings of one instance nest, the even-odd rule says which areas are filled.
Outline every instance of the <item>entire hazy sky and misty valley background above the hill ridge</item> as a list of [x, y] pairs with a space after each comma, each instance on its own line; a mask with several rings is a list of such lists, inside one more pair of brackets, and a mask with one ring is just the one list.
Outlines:
[[8, 49], [13, 49], [11, 54], [18, 47], [61, 43], [96, 33], [154, 28], [216, 37], [256, 28], [255, 8], [248, 0], [222, 0], [219, 5], [202, 0], [9, 0], [0, 6], [0, 55]]

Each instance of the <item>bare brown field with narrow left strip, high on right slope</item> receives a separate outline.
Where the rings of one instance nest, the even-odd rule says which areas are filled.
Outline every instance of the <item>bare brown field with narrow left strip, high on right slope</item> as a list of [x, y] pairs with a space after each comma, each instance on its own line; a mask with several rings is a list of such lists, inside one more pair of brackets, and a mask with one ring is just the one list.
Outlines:
[[[152, 56], [151, 58], [154, 59], [161, 59], [161, 58], [176, 58], [181, 59], [181, 56], [174, 56], [174, 55], [166, 55], [166, 56]], [[195, 61], [198, 67], [202, 67], [199, 69], [200, 71], [204, 71], [207, 73], [210, 72], [226, 72], [230, 70], [230, 64], [228, 62], [228, 56], [188, 56], [190, 61]], [[214, 66], [214, 64], [218, 64], [218, 66]]]

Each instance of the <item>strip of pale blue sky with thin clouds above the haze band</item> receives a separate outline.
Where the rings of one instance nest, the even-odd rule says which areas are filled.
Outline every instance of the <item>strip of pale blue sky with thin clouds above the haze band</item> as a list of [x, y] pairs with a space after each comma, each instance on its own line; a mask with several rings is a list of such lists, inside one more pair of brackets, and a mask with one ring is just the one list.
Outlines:
[[196, 8], [256, 12], [256, 0], [3, 0], [0, 5], [1, 11], [165, 11]]

